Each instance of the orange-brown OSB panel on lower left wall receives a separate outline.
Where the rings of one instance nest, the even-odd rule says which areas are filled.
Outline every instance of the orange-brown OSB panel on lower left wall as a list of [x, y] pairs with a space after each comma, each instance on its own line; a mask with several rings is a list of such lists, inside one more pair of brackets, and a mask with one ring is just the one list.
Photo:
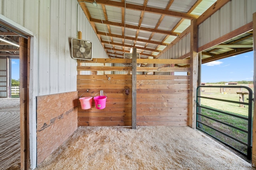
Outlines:
[[77, 129], [77, 92], [37, 96], [37, 164]]

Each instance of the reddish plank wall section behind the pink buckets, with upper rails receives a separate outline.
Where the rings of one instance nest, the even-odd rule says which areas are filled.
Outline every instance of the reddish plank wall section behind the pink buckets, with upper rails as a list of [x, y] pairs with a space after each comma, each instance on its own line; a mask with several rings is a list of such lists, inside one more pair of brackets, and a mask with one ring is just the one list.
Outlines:
[[[87, 62], [86, 65], [97, 63], [98, 66], [85, 66], [85, 64], [80, 64], [82, 62], [78, 62], [77, 70], [80, 74], [77, 75], [78, 98], [100, 96], [100, 90], [103, 90], [107, 99], [104, 109], [97, 109], [94, 99], [92, 99], [90, 109], [82, 109], [78, 101], [78, 126], [130, 126], [132, 122], [132, 76], [109, 73], [131, 71], [131, 68], [111, 66], [110, 63], [126, 63], [122, 59], [93, 59], [85, 62]], [[83, 71], [90, 71], [91, 75], [83, 75]], [[128, 95], [125, 94], [126, 89], [130, 90]]]

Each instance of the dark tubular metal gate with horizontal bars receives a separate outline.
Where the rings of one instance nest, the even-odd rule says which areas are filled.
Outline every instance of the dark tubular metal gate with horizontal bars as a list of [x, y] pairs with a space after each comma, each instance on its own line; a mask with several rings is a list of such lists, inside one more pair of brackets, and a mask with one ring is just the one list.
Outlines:
[[[220, 92], [216, 93], [216, 89]], [[222, 95], [223, 98], [220, 98]], [[235, 95], [237, 95], [237, 99], [239, 98], [238, 101], [228, 99], [229, 96]], [[196, 129], [252, 160], [252, 95], [251, 88], [247, 86], [198, 86], [196, 91]], [[246, 101], [244, 96], [248, 96]], [[230, 110], [233, 111], [220, 109], [221, 106], [219, 105], [226, 105], [226, 109], [231, 108]], [[246, 109], [240, 108], [243, 106]], [[247, 110], [247, 115], [233, 113], [234, 110], [240, 109], [243, 113]], [[244, 136], [244, 138], [240, 138], [240, 136]]]

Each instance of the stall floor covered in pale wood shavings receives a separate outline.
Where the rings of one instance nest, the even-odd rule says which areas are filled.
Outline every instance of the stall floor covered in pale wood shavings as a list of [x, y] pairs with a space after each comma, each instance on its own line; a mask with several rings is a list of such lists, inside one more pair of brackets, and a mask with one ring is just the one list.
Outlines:
[[247, 170], [246, 162], [190, 127], [78, 127], [36, 170]]

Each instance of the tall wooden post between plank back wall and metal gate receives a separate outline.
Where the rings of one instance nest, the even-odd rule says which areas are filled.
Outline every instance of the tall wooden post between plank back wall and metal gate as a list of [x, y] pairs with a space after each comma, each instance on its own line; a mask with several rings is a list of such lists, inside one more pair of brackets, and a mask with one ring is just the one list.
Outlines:
[[197, 53], [197, 24], [191, 20], [190, 25], [190, 104], [189, 104], [189, 126], [196, 128], [196, 88], [198, 77], [198, 53]]

